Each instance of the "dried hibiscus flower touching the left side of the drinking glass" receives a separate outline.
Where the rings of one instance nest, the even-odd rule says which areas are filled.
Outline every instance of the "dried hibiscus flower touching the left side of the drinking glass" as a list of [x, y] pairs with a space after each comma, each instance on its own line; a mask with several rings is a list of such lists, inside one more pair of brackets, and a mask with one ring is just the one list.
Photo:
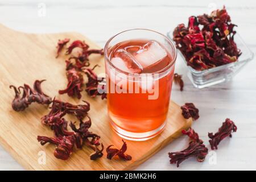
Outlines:
[[[95, 65], [92, 69], [85, 68], [82, 69], [85, 75], [88, 77], [88, 82], [85, 84], [85, 91], [88, 93], [90, 97], [96, 97], [97, 95], [101, 95], [101, 99], [106, 98], [105, 93], [105, 78], [98, 77], [96, 73], [93, 71], [98, 65]], [[100, 92], [99, 92], [100, 90]]]

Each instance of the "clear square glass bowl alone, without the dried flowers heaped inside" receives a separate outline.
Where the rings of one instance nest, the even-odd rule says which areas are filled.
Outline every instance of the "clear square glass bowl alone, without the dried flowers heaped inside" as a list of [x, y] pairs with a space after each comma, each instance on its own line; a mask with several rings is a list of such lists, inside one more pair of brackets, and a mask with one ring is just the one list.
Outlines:
[[[172, 40], [171, 31], [167, 33], [167, 36], [172, 42], [174, 42]], [[205, 69], [203, 71], [198, 71], [190, 66], [187, 66], [188, 77], [196, 88], [201, 89], [231, 80], [234, 77], [234, 75], [241, 71], [241, 69], [250, 60], [253, 59], [253, 52], [251, 52], [251, 50], [246, 46], [245, 42], [243, 42], [239, 34], [234, 35], [234, 41], [237, 44], [237, 48], [240, 49], [242, 52], [241, 56], [238, 57], [238, 61], [234, 63], [221, 65], [215, 68]], [[181, 55], [183, 61], [187, 65], [187, 61], [185, 60], [185, 57], [183, 56], [181, 51], [177, 49], [177, 52], [179, 52], [179, 55]]]

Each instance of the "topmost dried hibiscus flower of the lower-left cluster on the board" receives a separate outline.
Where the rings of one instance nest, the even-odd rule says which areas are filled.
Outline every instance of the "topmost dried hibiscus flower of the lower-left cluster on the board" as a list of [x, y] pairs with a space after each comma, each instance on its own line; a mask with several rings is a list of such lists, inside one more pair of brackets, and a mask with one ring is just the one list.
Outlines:
[[89, 102], [83, 102], [85, 102], [84, 105], [73, 105], [69, 102], [62, 102], [54, 99], [52, 102], [51, 111], [41, 118], [42, 123], [52, 128], [55, 125], [59, 125], [61, 118], [64, 117], [65, 114], [73, 114], [77, 117], [77, 119], [83, 119], [90, 110]]

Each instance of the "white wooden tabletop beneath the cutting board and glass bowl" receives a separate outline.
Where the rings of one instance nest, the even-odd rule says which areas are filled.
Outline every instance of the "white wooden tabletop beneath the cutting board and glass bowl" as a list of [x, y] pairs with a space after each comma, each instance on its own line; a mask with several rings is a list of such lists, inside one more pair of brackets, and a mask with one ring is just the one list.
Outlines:
[[[40, 4], [43, 2], [43, 4]], [[213, 2], [213, 3], [212, 3]], [[149, 28], [166, 34], [188, 16], [208, 13], [226, 5], [237, 31], [250, 49], [256, 51], [256, 2], [251, 1], [0, 1], [0, 23], [25, 32], [77, 31], [104, 46], [110, 36], [130, 28]], [[42, 9], [46, 5], [46, 11]], [[43, 10], [43, 11], [42, 11]], [[46, 15], [46, 16], [44, 16]], [[176, 168], [169, 163], [168, 152], [187, 147], [188, 139], [180, 137], [139, 166], [138, 170], [222, 170], [256, 169], [256, 61], [253, 60], [226, 84], [198, 90], [186, 76], [186, 66], [177, 59], [176, 72], [183, 75], [185, 86], [172, 90], [177, 104], [193, 102], [200, 109], [200, 119], [193, 128], [208, 143], [208, 131], [216, 132], [225, 118], [232, 119], [237, 133], [210, 152], [204, 163], [195, 158]], [[0, 169], [22, 170], [0, 146]]]

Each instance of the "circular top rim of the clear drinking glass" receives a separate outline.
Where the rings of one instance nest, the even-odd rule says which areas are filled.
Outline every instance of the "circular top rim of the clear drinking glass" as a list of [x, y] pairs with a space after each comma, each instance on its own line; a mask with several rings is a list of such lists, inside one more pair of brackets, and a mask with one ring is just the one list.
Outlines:
[[119, 32], [118, 34], [115, 34], [114, 36], [112, 36], [112, 37], [106, 42], [105, 47], [104, 47], [104, 57], [105, 57], [105, 60], [108, 61], [109, 65], [110, 65], [112, 68], [117, 69], [118, 72], [124, 73], [125, 75], [129, 75], [129, 74], [130, 74], [130, 75], [134, 75], [134, 74], [136, 74], [136, 75], [141, 75], [141, 74], [144, 74], [144, 73], [127, 73], [127, 72], [125, 72], [125, 71], [122, 71], [121, 69], [115, 67], [115, 66], [112, 64], [112, 62], [110, 61], [109, 56], [108, 56], [108, 47], [109, 47], [109, 43], [110, 43], [116, 36], [118, 36], [118, 35], [120, 35], [120, 34], [123, 34], [124, 32], [134, 31], [134, 30], [150, 31], [150, 32], [154, 32], [154, 33], [156, 33], [156, 34], [159, 34], [159, 35], [163, 36], [164, 39], [167, 40], [168, 44], [170, 44], [170, 46], [171, 46], [172, 49], [174, 50], [174, 56], [172, 57], [172, 60], [170, 61], [170, 63], [169, 63], [166, 67], [164, 67], [163, 69], [160, 69], [159, 71], [156, 71], [156, 72], [152, 72], [152, 73], [150, 73], [150, 74], [154, 74], [154, 73], [163, 73], [163, 72], [167, 71], [169, 68], [171, 68], [171, 67], [175, 64], [176, 59], [177, 59], [177, 49], [176, 49], [174, 43], [172, 43], [171, 40], [170, 40], [166, 35], [161, 34], [161, 33], [157, 32], [157, 31], [154, 31], [154, 30], [147, 29], [147, 28], [133, 28], [133, 29], [121, 31], [121, 32]]

